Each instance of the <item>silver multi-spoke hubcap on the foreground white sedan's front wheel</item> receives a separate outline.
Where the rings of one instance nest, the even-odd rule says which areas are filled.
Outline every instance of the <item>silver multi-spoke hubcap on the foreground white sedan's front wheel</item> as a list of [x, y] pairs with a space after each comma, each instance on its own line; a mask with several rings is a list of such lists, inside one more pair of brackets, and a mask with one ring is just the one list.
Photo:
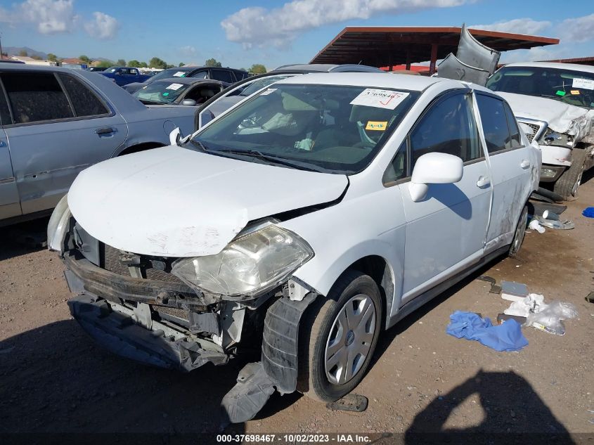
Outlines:
[[326, 342], [326, 377], [344, 385], [359, 373], [375, 334], [375, 305], [367, 295], [356, 295], [344, 304], [332, 323]]

